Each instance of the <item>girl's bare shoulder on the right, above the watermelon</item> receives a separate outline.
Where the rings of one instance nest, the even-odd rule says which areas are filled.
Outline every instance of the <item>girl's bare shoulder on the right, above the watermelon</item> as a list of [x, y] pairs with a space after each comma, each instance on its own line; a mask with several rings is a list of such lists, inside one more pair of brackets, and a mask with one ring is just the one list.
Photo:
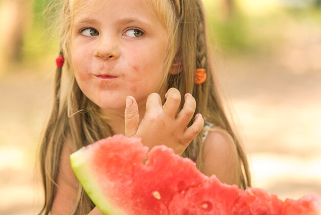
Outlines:
[[226, 184], [238, 184], [239, 162], [237, 150], [231, 135], [220, 128], [208, 133], [203, 146], [203, 171], [206, 175], [215, 174]]

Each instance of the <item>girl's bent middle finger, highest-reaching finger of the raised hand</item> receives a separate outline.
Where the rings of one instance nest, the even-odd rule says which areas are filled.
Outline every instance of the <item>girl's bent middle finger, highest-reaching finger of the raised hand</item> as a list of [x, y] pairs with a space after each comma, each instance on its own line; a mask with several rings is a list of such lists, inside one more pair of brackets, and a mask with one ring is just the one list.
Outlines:
[[170, 88], [165, 94], [166, 102], [163, 105], [163, 112], [170, 117], [176, 117], [180, 105], [180, 93], [176, 88]]

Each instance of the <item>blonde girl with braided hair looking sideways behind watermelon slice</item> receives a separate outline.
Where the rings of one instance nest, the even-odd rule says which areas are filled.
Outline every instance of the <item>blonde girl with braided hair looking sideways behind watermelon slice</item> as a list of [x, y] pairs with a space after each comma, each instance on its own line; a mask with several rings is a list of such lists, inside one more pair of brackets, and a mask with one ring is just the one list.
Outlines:
[[41, 213], [101, 214], [69, 155], [117, 133], [149, 148], [165, 144], [207, 175], [250, 186], [214, 83], [201, 0], [66, 0], [62, 14], [55, 102], [41, 148]]

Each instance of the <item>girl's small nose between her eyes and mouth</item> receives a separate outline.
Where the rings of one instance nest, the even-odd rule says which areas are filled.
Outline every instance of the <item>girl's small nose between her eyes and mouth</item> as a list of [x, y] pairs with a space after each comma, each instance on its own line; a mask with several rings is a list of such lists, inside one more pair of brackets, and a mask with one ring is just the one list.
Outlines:
[[111, 40], [111, 37], [101, 37], [99, 38], [94, 55], [103, 60], [115, 60], [119, 57], [118, 48], [116, 40]]

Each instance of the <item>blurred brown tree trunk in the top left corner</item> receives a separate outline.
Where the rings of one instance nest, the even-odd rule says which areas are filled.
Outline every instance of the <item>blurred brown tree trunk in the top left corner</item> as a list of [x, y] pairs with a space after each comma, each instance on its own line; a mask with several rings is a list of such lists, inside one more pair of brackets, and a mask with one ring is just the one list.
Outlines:
[[10, 63], [21, 62], [24, 34], [29, 27], [31, 13], [31, 1], [0, 2], [0, 74]]

